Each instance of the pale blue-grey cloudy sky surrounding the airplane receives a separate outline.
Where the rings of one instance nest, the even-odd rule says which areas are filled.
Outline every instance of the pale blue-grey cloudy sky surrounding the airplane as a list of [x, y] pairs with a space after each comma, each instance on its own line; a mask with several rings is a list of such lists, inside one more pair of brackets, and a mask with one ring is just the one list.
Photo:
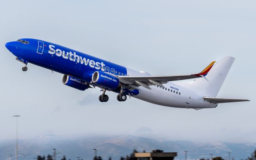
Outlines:
[[[0, 5], [0, 140], [42, 134], [130, 134], [197, 142], [256, 142], [256, 1], [56, 0]], [[36, 38], [154, 76], [200, 72], [210, 62], [236, 58], [218, 94], [250, 102], [194, 110], [138, 100], [118, 102], [100, 89], [76, 90], [62, 74], [15, 60], [5, 43]]]

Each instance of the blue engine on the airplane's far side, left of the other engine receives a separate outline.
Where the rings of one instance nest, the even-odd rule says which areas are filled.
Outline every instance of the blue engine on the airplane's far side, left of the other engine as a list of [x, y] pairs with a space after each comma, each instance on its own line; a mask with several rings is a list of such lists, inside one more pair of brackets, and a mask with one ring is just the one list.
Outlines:
[[68, 76], [65, 74], [62, 77], [62, 83], [67, 86], [76, 88], [78, 90], [86, 90], [89, 88], [89, 85], [86, 82], [84, 82], [83, 80], [80, 80], [80, 79], [77, 79], [77, 78], [74, 78], [72, 76]]

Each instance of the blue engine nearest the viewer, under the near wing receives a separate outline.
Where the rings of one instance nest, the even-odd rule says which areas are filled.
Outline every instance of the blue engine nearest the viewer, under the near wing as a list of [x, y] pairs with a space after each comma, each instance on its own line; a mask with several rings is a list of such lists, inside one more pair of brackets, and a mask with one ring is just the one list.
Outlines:
[[115, 90], [119, 87], [119, 79], [117, 77], [100, 71], [96, 71], [92, 74], [92, 82], [110, 90]]

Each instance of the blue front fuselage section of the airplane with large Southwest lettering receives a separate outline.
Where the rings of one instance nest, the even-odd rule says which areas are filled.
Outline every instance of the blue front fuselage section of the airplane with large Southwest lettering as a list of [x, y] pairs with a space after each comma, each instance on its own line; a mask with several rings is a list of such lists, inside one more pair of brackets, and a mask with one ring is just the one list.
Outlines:
[[80, 78], [88, 83], [92, 80], [92, 74], [96, 71], [110, 72], [118, 76], [126, 76], [124, 66], [60, 46], [43, 40], [23, 38], [29, 42], [8, 42], [8, 48], [12, 54], [32, 64]]

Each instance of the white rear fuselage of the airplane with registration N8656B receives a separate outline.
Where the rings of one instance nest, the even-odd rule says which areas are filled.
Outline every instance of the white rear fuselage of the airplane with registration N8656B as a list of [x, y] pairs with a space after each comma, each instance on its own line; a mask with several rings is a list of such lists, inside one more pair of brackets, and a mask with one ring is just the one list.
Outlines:
[[[145, 76], [149, 75], [146, 72], [138, 72], [135, 70], [127, 69], [127, 74], [130, 76]], [[150, 86], [151, 90], [140, 86], [140, 93], [134, 98], [144, 100], [153, 104], [161, 106], [176, 107], [176, 108], [215, 108], [218, 104], [210, 103], [204, 100], [204, 96], [190, 88], [178, 85], [175, 82], [168, 82], [163, 84], [165, 88], [160, 86]]]

